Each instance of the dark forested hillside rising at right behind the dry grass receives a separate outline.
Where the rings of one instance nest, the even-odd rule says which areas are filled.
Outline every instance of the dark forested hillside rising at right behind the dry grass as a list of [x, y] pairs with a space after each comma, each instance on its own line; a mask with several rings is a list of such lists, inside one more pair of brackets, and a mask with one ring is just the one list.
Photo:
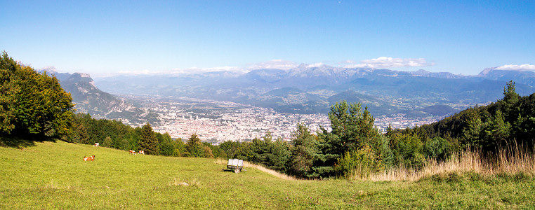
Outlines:
[[[503, 146], [533, 146], [535, 141], [535, 93], [521, 97], [510, 81], [503, 99], [476, 106], [430, 125], [412, 129], [428, 138], [441, 137], [457, 148], [479, 148], [494, 153]], [[409, 131], [409, 130], [407, 130]], [[399, 133], [402, 131], [397, 131]]]

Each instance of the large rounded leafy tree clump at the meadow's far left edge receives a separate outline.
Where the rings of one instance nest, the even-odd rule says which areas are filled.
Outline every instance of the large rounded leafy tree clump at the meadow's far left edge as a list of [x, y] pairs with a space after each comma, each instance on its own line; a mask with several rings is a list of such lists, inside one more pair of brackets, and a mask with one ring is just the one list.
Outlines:
[[64, 137], [72, 123], [72, 97], [55, 76], [0, 58], [0, 132]]

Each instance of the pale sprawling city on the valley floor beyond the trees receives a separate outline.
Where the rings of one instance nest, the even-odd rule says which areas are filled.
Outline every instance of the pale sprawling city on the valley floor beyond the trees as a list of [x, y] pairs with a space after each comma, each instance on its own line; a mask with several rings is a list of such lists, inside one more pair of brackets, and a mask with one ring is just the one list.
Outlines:
[[[297, 123], [307, 125], [310, 132], [321, 127], [330, 130], [327, 113], [291, 114], [234, 102], [219, 102], [185, 97], [140, 97], [136, 101], [159, 115], [154, 131], [169, 133], [173, 138], [188, 139], [192, 134], [213, 144], [223, 141], [249, 141], [271, 132], [274, 139], [291, 139]], [[373, 113], [372, 113], [373, 115]], [[406, 119], [404, 115], [374, 116], [375, 125], [384, 131], [390, 124], [394, 128], [413, 127], [432, 123], [440, 117]], [[128, 123], [128, 122], [124, 122]]]

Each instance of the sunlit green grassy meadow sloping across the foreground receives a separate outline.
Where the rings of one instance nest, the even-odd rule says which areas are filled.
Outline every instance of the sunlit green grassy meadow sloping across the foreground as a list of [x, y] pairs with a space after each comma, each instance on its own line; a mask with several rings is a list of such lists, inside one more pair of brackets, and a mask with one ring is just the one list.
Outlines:
[[291, 181], [224, 167], [62, 141], [0, 147], [0, 209], [535, 209], [535, 179], [522, 174]]

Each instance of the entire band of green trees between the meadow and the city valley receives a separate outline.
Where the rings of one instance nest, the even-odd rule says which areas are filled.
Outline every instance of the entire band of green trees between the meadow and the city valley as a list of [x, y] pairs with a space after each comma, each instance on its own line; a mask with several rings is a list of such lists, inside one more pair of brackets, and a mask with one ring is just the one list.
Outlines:
[[[201, 142], [196, 134], [183, 141], [154, 132], [149, 123], [131, 127], [117, 120], [74, 114], [70, 93], [57, 78], [18, 64], [6, 52], [0, 59], [0, 134], [26, 139], [51, 138], [74, 144], [95, 144], [150, 155], [239, 158], [304, 179], [367, 176], [392, 167], [421, 169], [429, 160], [446, 160], [463, 150], [495, 155], [510, 145], [533, 146], [535, 94], [520, 97], [515, 83], [503, 99], [476, 106], [437, 123], [392, 130], [384, 134], [360, 103], [331, 106], [331, 131], [313, 134], [296, 125], [291, 141], [268, 133], [253, 141]], [[1, 143], [1, 142], [0, 142]], [[3, 144], [2, 144], [3, 145]]]

